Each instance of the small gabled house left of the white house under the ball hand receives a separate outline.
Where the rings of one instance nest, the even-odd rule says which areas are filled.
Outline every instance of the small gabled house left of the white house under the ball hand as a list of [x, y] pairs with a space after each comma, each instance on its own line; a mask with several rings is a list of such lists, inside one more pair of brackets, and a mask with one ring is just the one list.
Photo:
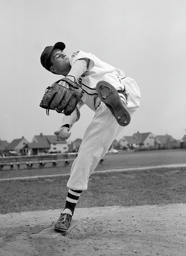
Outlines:
[[24, 136], [21, 139], [15, 139], [11, 143], [8, 144], [8, 146], [4, 149], [5, 154], [17, 154], [22, 155], [23, 154], [23, 148], [24, 146], [29, 143], [27, 139], [24, 138]]

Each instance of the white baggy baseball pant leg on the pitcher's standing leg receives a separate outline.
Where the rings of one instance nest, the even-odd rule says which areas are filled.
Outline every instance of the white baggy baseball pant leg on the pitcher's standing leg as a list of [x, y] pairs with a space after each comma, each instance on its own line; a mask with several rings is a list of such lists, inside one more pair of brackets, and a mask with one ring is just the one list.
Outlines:
[[[128, 112], [132, 115], [135, 110], [128, 110]], [[101, 102], [86, 129], [78, 156], [72, 164], [70, 178], [67, 182], [68, 188], [87, 189], [90, 175], [123, 128], [118, 124], [110, 109]]]

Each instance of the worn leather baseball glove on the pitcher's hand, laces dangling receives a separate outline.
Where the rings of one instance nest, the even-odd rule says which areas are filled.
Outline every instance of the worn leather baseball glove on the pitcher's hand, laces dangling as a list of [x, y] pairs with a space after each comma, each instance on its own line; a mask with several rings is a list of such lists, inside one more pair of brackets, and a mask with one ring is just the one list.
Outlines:
[[[59, 84], [60, 81], [66, 83]], [[78, 104], [82, 94], [82, 89], [78, 84], [72, 82], [68, 78], [62, 78], [59, 81], [47, 87], [43, 99], [41, 100], [40, 107], [47, 109], [56, 110], [58, 113], [63, 113], [68, 116], [70, 115], [76, 105]]]

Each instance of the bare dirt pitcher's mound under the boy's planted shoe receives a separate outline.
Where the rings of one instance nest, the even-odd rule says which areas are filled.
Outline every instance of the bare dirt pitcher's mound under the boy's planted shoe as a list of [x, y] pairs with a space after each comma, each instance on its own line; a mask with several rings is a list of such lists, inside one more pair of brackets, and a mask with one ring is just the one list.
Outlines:
[[186, 255], [186, 204], [76, 208], [76, 226], [54, 238], [60, 210], [0, 215], [1, 256]]

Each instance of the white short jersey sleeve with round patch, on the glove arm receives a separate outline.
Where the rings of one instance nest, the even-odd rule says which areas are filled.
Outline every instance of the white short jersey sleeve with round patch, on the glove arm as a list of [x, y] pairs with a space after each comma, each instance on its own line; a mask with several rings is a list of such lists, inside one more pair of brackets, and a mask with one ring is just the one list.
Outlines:
[[90, 71], [94, 67], [94, 57], [91, 53], [83, 52], [83, 51], [76, 51], [72, 53], [70, 57], [70, 65], [72, 66], [77, 60], [84, 59], [87, 63], [87, 71]]

